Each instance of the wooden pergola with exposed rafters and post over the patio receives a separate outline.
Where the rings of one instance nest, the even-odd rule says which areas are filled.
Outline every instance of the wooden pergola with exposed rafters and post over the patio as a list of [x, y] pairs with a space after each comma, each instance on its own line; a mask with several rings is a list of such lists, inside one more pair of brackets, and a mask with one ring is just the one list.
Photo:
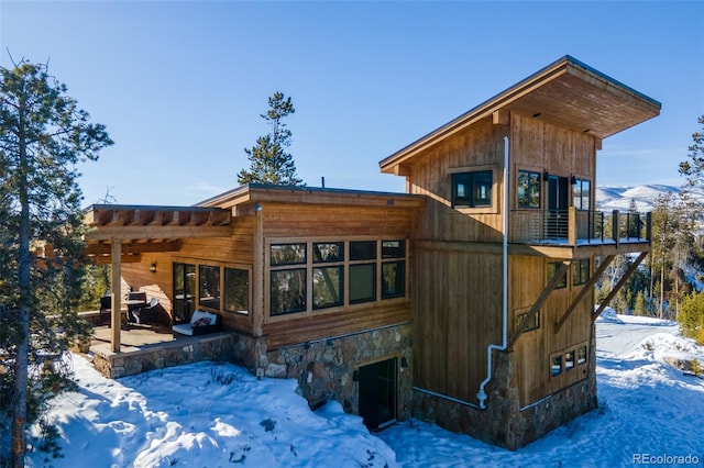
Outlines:
[[229, 237], [232, 211], [201, 207], [148, 207], [94, 204], [85, 216], [87, 254], [97, 264], [110, 263], [111, 317], [110, 343], [120, 352], [120, 311], [122, 308], [122, 264], [140, 261], [141, 254], [177, 252], [182, 239]]

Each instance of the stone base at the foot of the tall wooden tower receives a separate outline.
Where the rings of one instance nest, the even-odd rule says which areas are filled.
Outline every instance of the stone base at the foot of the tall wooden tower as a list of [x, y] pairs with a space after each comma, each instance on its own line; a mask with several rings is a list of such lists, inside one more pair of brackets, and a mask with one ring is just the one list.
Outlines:
[[479, 406], [415, 390], [413, 415], [490, 444], [512, 450], [520, 448], [597, 408], [594, 325], [592, 325], [586, 379], [521, 411], [514, 375], [512, 353], [496, 353], [494, 375], [487, 386], [486, 409], [482, 410]]

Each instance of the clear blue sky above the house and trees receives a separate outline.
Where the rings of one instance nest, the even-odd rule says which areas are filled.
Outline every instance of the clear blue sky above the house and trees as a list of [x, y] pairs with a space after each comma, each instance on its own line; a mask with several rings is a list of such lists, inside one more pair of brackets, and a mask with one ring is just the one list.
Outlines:
[[50, 62], [116, 144], [81, 165], [86, 205], [193, 204], [237, 187], [290, 96], [309, 185], [403, 191], [378, 161], [572, 55], [660, 101], [606, 138], [597, 183], [679, 186], [704, 114], [703, 1], [0, 1], [0, 64]]

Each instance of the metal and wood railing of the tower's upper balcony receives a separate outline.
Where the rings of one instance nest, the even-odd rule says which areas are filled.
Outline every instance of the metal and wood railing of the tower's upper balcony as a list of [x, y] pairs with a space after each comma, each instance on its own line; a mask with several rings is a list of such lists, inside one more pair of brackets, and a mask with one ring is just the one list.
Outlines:
[[590, 245], [649, 242], [650, 213], [581, 211], [515, 211], [512, 241], [526, 244]]

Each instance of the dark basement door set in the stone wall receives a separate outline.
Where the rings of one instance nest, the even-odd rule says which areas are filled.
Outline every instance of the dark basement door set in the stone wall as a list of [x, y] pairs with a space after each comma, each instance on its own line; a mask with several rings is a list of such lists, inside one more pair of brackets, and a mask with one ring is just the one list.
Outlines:
[[370, 431], [396, 422], [397, 359], [360, 367], [360, 416]]

